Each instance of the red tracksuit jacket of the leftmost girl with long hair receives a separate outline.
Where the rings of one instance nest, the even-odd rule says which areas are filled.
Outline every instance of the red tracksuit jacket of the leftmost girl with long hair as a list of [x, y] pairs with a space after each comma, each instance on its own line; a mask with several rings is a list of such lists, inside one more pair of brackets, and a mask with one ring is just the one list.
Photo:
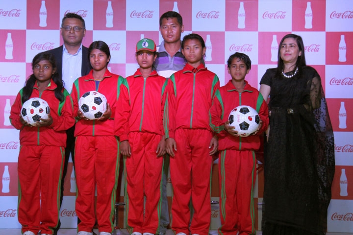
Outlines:
[[34, 84], [32, 94], [29, 98], [40, 97], [47, 101], [50, 107], [50, 116], [53, 123], [50, 126], [30, 127], [22, 124], [19, 114], [22, 108], [23, 89], [17, 94], [11, 107], [11, 124], [20, 131], [21, 145], [51, 145], [66, 146], [66, 130], [75, 124], [73, 115], [73, 104], [70, 94], [63, 89], [64, 101], [60, 102], [54, 94], [56, 84], [51, 79], [49, 86], [40, 95], [37, 83]]

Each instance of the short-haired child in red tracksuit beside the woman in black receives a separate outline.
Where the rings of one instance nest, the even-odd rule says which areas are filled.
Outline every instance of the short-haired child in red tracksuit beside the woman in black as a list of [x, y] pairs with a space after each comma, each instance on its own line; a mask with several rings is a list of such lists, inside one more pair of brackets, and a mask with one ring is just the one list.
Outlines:
[[[210, 109], [210, 125], [218, 134], [221, 227], [219, 235], [255, 234], [253, 188], [256, 177], [255, 150], [260, 147], [259, 133], [267, 129], [268, 108], [262, 95], [245, 81], [251, 60], [236, 52], [227, 61], [232, 79], [218, 91]], [[254, 108], [259, 115], [258, 129], [241, 137], [229, 125], [229, 113], [239, 105]]]

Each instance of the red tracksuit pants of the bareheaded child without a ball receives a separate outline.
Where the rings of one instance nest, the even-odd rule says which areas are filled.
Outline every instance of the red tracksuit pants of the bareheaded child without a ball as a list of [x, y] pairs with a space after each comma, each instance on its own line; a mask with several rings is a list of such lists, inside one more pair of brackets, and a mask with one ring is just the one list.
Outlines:
[[[172, 229], [175, 233], [208, 235], [211, 223], [210, 175], [212, 156], [208, 148], [212, 132], [203, 129], [177, 129], [176, 151], [170, 157], [173, 185]], [[190, 225], [189, 202], [194, 214]]]

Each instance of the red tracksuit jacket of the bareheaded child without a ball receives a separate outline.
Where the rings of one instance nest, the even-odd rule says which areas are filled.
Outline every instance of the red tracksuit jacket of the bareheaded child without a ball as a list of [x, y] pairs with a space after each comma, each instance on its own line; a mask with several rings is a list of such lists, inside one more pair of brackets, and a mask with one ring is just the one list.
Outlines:
[[196, 69], [186, 64], [175, 72], [167, 87], [165, 138], [174, 138], [178, 128], [211, 131], [208, 111], [219, 87], [218, 76], [203, 64]]

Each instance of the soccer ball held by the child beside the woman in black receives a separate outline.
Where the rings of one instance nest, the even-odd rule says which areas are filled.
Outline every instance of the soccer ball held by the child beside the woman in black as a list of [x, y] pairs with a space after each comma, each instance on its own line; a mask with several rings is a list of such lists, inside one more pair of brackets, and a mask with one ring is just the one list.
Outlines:
[[230, 112], [228, 120], [241, 137], [247, 137], [257, 130], [260, 117], [252, 107], [240, 105]]

